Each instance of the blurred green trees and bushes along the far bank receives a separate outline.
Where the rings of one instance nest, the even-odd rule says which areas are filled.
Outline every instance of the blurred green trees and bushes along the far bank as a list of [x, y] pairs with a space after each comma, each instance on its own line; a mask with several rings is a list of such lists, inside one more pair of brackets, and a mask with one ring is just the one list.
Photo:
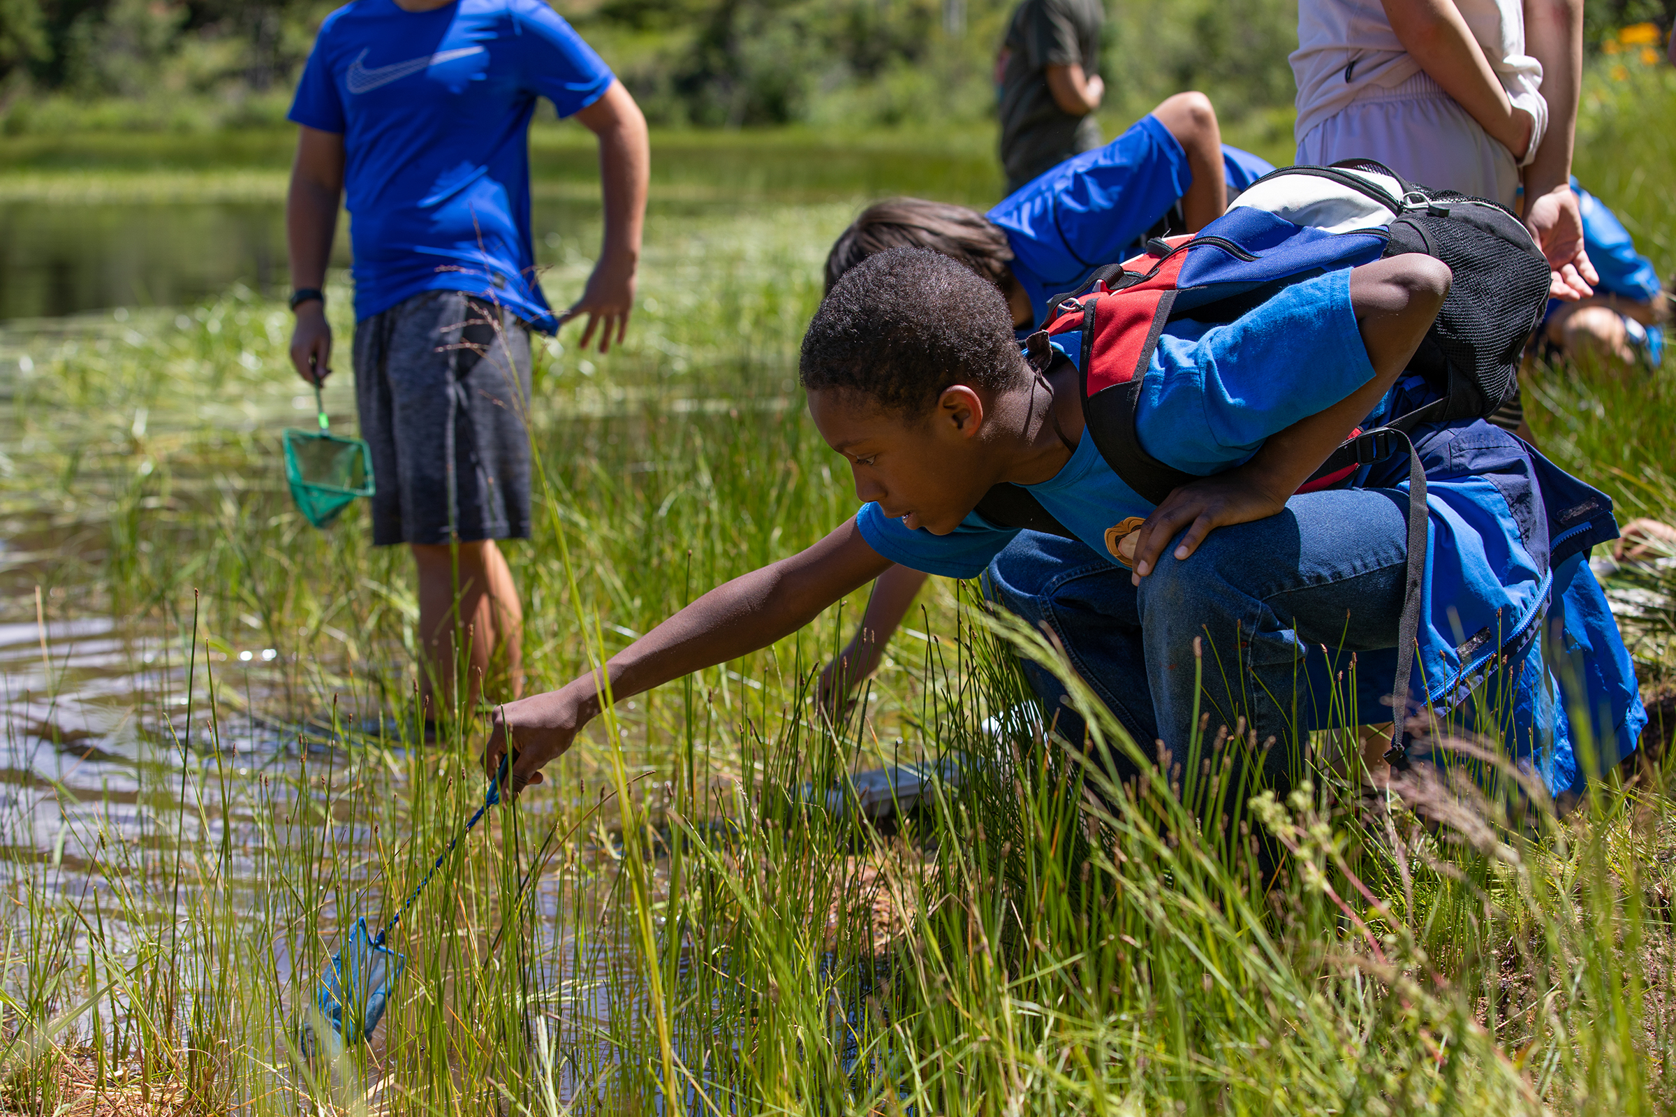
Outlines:
[[[994, 111], [1016, 0], [550, 0], [654, 124], [970, 127]], [[332, 0], [0, 0], [0, 131], [277, 126]], [[1668, 34], [1676, 0], [1596, 0], [1591, 50]], [[1108, 5], [1108, 134], [1202, 89], [1254, 146], [1291, 149], [1294, 0]]]

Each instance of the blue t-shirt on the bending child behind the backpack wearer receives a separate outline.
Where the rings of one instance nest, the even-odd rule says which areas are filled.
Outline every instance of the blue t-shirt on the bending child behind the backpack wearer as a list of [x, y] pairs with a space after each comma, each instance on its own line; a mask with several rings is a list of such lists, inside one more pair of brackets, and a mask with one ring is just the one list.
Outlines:
[[[1274, 168], [1264, 159], [1222, 148], [1229, 193], [1242, 191]], [[1193, 174], [1187, 153], [1158, 117], [1146, 114], [1104, 148], [1066, 159], [1031, 179], [985, 216], [1012, 248], [1014, 278], [1036, 307], [1074, 290], [1088, 273], [1140, 253], [1140, 242], [1170, 211]]]

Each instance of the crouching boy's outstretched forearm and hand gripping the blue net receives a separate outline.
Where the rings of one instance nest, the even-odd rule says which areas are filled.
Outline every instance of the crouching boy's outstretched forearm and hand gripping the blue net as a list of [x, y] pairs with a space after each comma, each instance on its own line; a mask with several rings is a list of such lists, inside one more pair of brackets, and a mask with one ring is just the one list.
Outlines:
[[[712, 589], [612, 656], [605, 664], [612, 701], [768, 647], [888, 565], [850, 520], [808, 550]], [[513, 792], [540, 783], [541, 766], [570, 748], [582, 726], [598, 716], [603, 683], [590, 671], [556, 691], [499, 706], [483, 753], [484, 770], [491, 775], [499, 770], [510, 740]]]

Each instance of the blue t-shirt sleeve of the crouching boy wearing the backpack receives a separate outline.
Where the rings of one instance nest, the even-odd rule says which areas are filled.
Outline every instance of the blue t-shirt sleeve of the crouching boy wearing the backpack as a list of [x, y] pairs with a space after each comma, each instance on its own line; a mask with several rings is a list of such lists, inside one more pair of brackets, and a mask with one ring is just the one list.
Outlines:
[[1158, 339], [1135, 426], [1151, 456], [1210, 475], [1373, 379], [1349, 268], [1284, 292], [1223, 325], [1180, 320]]

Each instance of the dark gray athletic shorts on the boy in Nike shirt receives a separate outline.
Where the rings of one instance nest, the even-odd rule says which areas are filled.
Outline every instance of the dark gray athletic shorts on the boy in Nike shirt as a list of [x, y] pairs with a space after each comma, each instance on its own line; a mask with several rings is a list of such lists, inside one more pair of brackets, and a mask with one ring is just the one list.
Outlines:
[[355, 325], [372, 542], [530, 538], [530, 327], [454, 290]]

